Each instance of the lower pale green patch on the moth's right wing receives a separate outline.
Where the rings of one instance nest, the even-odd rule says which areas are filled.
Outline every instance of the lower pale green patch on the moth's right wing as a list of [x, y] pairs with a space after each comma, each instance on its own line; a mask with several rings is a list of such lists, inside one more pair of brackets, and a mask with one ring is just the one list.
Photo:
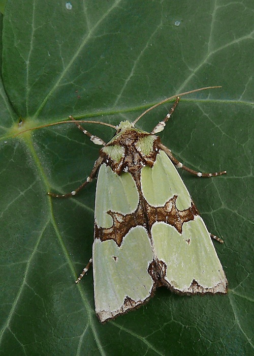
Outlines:
[[164, 222], [152, 226], [155, 255], [165, 262], [165, 281], [182, 293], [226, 293], [227, 279], [200, 216], [183, 224], [182, 233]]

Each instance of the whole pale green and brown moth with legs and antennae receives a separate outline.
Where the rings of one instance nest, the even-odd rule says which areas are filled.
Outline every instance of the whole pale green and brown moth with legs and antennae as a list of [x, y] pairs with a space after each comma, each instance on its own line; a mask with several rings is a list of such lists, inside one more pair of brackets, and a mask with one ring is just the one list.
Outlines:
[[223, 241], [208, 232], [175, 167], [198, 177], [226, 171], [187, 168], [157, 136], [179, 97], [151, 132], [135, 124], [170, 98], [133, 123], [124, 121], [117, 127], [101, 123], [116, 129], [108, 143], [74, 121], [93, 143], [102, 145], [100, 156], [79, 188], [65, 195], [48, 193], [75, 196], [98, 174], [92, 258], [76, 283], [92, 263], [94, 304], [101, 322], [143, 305], [160, 286], [179, 294], [227, 293], [228, 282], [211, 238]]

